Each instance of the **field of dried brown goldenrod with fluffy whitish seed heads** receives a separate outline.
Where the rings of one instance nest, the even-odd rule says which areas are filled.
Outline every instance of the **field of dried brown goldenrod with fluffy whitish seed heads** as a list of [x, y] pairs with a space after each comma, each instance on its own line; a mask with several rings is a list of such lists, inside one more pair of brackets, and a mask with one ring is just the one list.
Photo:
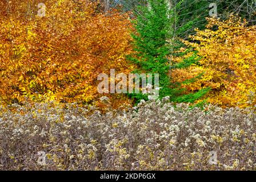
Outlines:
[[165, 100], [105, 113], [53, 102], [1, 107], [0, 169], [256, 169], [252, 108], [190, 109]]

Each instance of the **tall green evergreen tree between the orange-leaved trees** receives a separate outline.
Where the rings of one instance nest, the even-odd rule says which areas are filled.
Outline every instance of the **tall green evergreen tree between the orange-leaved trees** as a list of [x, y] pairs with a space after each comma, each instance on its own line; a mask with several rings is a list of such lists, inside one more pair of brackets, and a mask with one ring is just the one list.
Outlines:
[[[172, 6], [166, 0], [149, 0], [147, 6], [138, 6], [135, 11], [137, 19], [134, 20], [137, 32], [132, 34], [135, 53], [129, 55], [129, 59], [138, 65], [136, 73], [159, 74], [160, 98], [170, 96], [171, 101], [194, 102], [209, 89], [184, 96], [180, 88], [181, 83], [172, 83], [170, 77], [171, 69], [175, 68], [170, 57], [178, 48], [178, 41], [175, 39], [178, 18], [175, 9], [180, 5], [181, 3]], [[184, 27], [188, 25], [185, 24]], [[179, 64], [179, 67], [183, 68], [195, 62], [194, 59], [189, 61], [187, 60], [186, 64]], [[147, 100], [147, 96], [143, 94], [131, 94], [131, 97], [137, 101]]]

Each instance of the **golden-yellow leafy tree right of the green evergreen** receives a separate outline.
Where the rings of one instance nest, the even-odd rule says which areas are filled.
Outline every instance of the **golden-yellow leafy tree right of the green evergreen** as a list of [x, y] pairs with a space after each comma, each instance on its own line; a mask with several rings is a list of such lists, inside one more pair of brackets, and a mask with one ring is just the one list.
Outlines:
[[[256, 27], [245, 20], [230, 16], [227, 20], [210, 18], [205, 30], [197, 30], [185, 41], [197, 51], [199, 64], [176, 69], [175, 81], [184, 81], [203, 73], [192, 84], [183, 84], [188, 91], [211, 87], [206, 96], [212, 104], [223, 107], [247, 107], [256, 104]], [[185, 59], [191, 53], [182, 57]], [[182, 60], [181, 57], [176, 61]]]

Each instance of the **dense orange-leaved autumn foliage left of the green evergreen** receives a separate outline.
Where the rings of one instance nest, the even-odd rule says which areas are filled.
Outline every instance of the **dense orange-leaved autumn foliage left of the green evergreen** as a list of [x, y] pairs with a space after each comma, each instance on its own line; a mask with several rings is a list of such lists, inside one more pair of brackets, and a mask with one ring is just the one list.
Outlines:
[[0, 11], [1, 101], [90, 103], [101, 97], [99, 73], [130, 72], [127, 14], [102, 14], [97, 2], [59, 0], [43, 2], [46, 16], [39, 17], [42, 1], [6, 2]]

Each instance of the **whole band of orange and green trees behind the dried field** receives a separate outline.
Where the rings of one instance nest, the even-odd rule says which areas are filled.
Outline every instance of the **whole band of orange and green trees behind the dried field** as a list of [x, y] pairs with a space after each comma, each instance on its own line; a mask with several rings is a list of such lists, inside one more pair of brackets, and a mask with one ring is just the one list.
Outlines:
[[1, 102], [97, 105], [97, 76], [115, 69], [159, 73], [174, 102], [255, 105], [255, 1], [217, 1], [216, 18], [210, 1], [42, 1], [39, 17], [40, 2], [1, 2]]

